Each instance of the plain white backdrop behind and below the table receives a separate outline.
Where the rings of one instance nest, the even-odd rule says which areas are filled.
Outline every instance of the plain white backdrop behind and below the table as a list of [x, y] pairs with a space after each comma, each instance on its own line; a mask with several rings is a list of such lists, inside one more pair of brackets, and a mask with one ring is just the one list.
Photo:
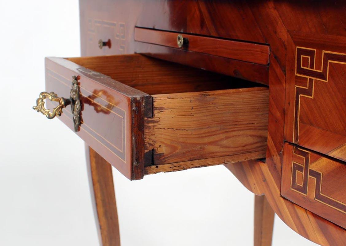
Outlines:
[[[44, 57], [80, 55], [78, 1], [1, 0], [0, 21], [0, 245], [98, 245], [83, 141], [31, 109]], [[123, 246], [253, 243], [253, 194], [223, 166], [113, 176]], [[315, 244], [275, 217], [273, 245]]]

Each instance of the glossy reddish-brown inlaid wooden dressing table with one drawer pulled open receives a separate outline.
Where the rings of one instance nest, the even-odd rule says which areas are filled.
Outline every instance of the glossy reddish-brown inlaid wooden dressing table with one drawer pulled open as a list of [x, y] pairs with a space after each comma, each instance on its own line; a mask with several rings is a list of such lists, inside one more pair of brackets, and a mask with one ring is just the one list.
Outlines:
[[343, 1], [80, 1], [82, 57], [46, 58], [34, 109], [85, 141], [102, 244], [120, 245], [111, 164], [130, 180], [225, 165], [256, 195], [254, 245], [271, 245], [274, 212], [346, 245], [345, 13]]

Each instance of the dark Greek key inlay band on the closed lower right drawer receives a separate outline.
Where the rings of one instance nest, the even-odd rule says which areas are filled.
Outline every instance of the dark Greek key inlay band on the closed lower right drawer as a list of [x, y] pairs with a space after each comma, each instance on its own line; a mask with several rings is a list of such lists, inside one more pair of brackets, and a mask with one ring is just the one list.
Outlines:
[[[331, 208], [346, 213], [346, 204], [333, 197], [322, 193], [322, 173], [311, 169], [310, 154], [307, 150], [294, 147], [292, 158], [291, 190], [304, 196], [308, 195], [309, 177], [315, 179], [314, 200]], [[298, 179], [298, 173], [302, 173], [302, 180]]]

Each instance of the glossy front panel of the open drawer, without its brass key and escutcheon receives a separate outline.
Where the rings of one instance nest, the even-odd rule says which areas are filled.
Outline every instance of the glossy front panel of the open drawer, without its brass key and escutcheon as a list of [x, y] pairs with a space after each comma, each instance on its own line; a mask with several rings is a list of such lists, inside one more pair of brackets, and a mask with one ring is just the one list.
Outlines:
[[[45, 69], [46, 91], [59, 97], [69, 98], [72, 76], [80, 76], [82, 112], [76, 134], [126, 177], [142, 178], [144, 153], [137, 146], [143, 145], [143, 132], [138, 129], [143, 129], [148, 95], [63, 58], [46, 58]], [[70, 106], [59, 118], [74, 130]]]

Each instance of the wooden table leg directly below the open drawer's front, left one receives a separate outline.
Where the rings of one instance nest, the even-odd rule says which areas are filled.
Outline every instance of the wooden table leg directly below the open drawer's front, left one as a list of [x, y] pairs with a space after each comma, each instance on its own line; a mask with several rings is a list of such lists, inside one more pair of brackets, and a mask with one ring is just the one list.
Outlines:
[[112, 167], [87, 144], [85, 156], [100, 245], [120, 246]]

